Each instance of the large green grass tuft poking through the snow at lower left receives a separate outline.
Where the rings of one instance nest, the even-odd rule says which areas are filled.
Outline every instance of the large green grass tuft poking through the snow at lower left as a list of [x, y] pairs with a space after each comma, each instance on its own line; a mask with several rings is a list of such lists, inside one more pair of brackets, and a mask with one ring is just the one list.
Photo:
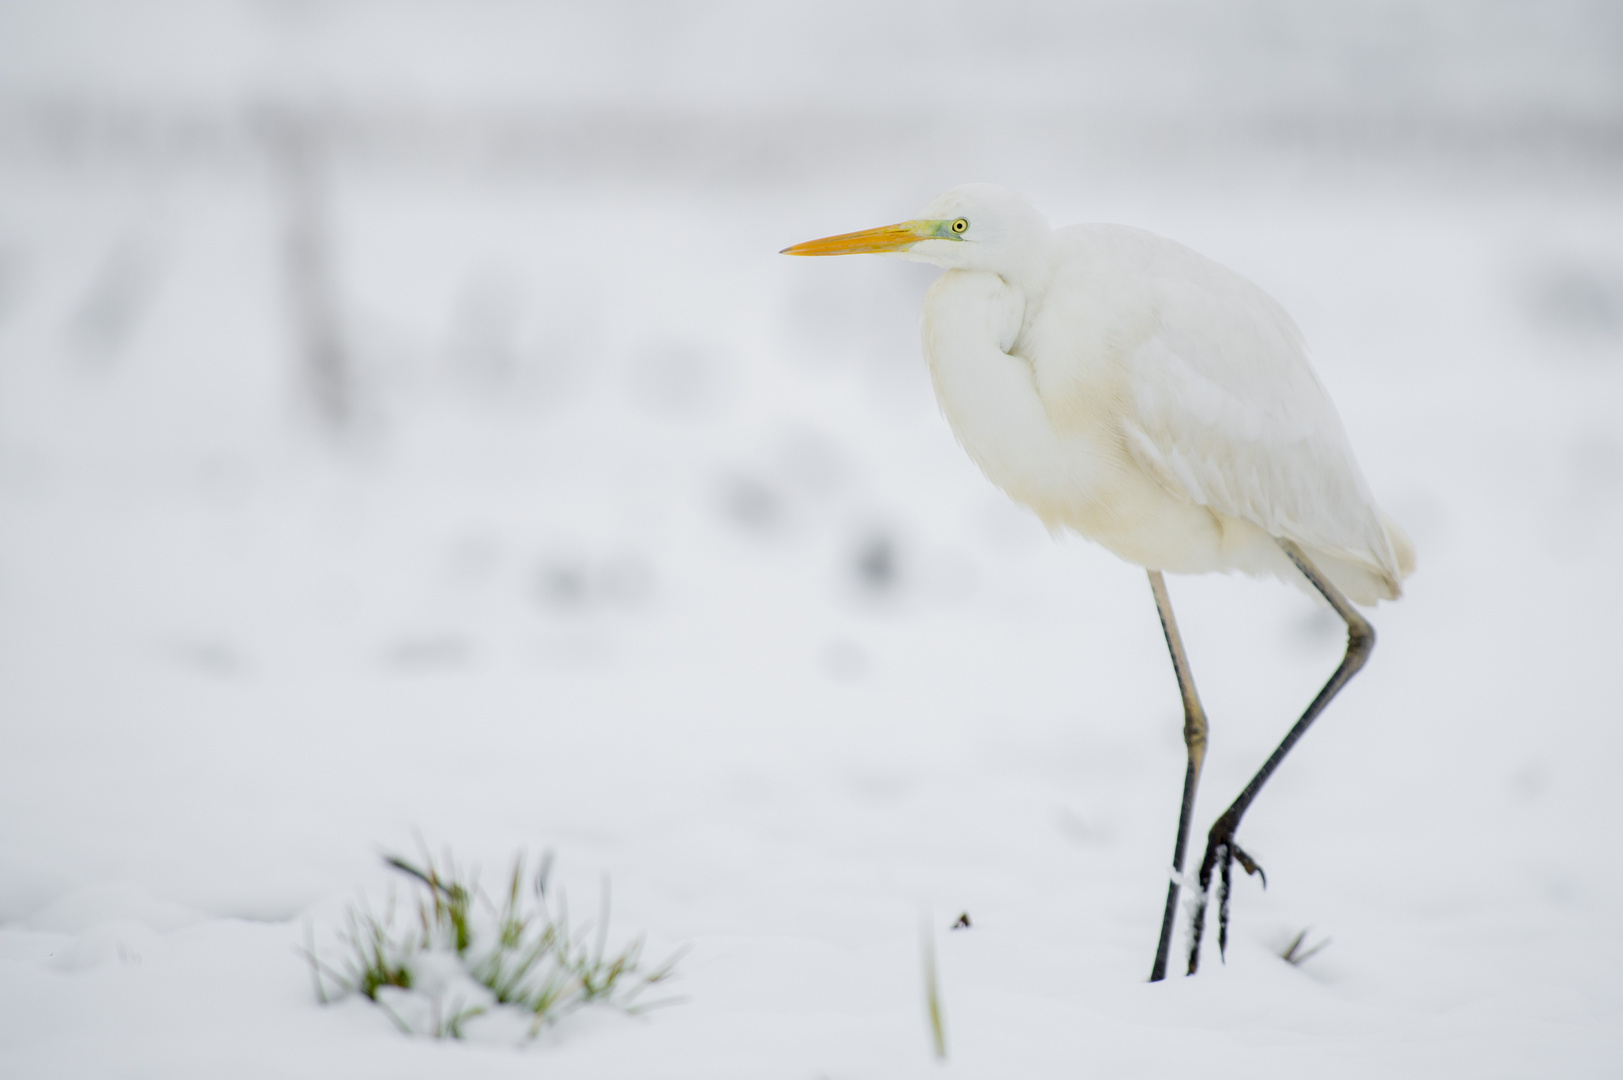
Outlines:
[[500, 903], [450, 854], [437, 861], [424, 848], [415, 862], [388, 854], [385, 864], [417, 887], [415, 911], [401, 914], [393, 892], [383, 914], [357, 900], [326, 953], [307, 931], [302, 952], [323, 1004], [359, 994], [406, 1033], [459, 1039], [495, 1010], [527, 1015], [534, 1038], [586, 1005], [638, 1015], [674, 1000], [646, 994], [674, 978], [682, 952], [649, 966], [641, 937], [610, 950], [607, 880], [596, 927], [571, 929], [566, 900], [547, 895], [552, 853], [532, 877], [519, 853]]

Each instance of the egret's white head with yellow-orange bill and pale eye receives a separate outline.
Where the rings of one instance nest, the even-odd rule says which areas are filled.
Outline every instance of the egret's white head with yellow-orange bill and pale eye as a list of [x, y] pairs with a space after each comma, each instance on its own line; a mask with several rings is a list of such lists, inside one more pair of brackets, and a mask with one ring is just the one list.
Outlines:
[[899, 255], [946, 270], [984, 270], [1026, 283], [1045, 270], [1053, 232], [1031, 203], [997, 184], [935, 197], [923, 216], [786, 247], [784, 255]]

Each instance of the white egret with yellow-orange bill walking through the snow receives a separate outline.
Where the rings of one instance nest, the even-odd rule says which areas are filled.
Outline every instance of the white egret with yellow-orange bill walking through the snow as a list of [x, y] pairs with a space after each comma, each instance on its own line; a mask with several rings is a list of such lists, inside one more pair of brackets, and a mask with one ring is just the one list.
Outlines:
[[923, 348], [941, 411], [987, 477], [1050, 528], [1149, 572], [1188, 749], [1151, 981], [1167, 970], [1206, 757], [1206, 715], [1162, 573], [1272, 575], [1316, 590], [1347, 624], [1341, 666], [1208, 833], [1193, 974], [1212, 874], [1222, 950], [1233, 861], [1259, 870], [1235, 843], [1240, 819], [1375, 646], [1352, 603], [1397, 599], [1414, 549], [1375, 505], [1302, 333], [1235, 271], [1141, 229], [1050, 229], [992, 184], [953, 188], [915, 221], [784, 248], [863, 252], [948, 271], [925, 297]]

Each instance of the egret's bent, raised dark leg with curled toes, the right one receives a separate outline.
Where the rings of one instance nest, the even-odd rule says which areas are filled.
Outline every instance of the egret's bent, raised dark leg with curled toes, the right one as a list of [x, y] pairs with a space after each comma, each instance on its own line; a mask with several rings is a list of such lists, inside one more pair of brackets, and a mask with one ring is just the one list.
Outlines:
[[[1341, 666], [1336, 667], [1336, 674], [1329, 677], [1324, 689], [1318, 692], [1318, 697], [1308, 705], [1307, 711], [1302, 713], [1289, 732], [1285, 732], [1284, 741], [1269, 758], [1263, 763], [1263, 768], [1251, 776], [1251, 783], [1245, 786], [1240, 797], [1230, 804], [1222, 817], [1212, 823], [1211, 832], [1206, 835], [1206, 858], [1201, 859], [1201, 887], [1199, 895], [1195, 901], [1195, 918], [1190, 926], [1190, 974], [1199, 968], [1201, 961], [1201, 934], [1206, 929], [1206, 896], [1211, 892], [1212, 870], [1217, 872], [1217, 952], [1225, 953], [1229, 948], [1229, 887], [1230, 874], [1235, 859], [1245, 867], [1246, 874], [1261, 874], [1263, 867], [1256, 861], [1240, 849], [1240, 845], [1233, 841], [1233, 833], [1240, 828], [1240, 819], [1245, 817], [1246, 809], [1256, 799], [1256, 793], [1263, 789], [1268, 778], [1274, 775], [1279, 763], [1285, 760], [1285, 754], [1290, 754], [1290, 747], [1307, 732], [1307, 729], [1318, 719], [1318, 715], [1324, 711], [1331, 698], [1341, 692], [1347, 682], [1358, 674], [1363, 663], [1370, 659], [1370, 653], [1375, 650], [1375, 627], [1347, 603], [1347, 598], [1331, 585], [1323, 573], [1318, 572], [1308, 557], [1302, 554], [1302, 549], [1295, 542], [1287, 539], [1279, 539], [1279, 546], [1290, 557], [1290, 562], [1297, 565], [1297, 570], [1319, 591], [1319, 594], [1329, 601], [1329, 606], [1336, 609], [1342, 622], [1347, 624], [1347, 654], [1342, 656]], [[1263, 885], [1268, 885], [1268, 875], [1263, 874]]]

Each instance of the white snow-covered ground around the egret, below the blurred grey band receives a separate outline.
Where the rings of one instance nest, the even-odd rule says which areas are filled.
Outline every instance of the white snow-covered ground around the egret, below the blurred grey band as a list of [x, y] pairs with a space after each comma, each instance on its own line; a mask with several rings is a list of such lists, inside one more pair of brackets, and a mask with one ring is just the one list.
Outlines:
[[[263, 162], [6, 158], [0, 1074], [1617, 1075], [1623, 187], [1091, 169], [1044, 123], [911, 172], [876, 123], [839, 151], [885, 167], [800, 180], [341, 164], [336, 440]], [[1274, 292], [1419, 547], [1195, 979], [1144, 983], [1183, 745], [1143, 572], [953, 445], [930, 271], [776, 255], [967, 179]], [[1204, 825], [1341, 637], [1279, 585], [1170, 585]], [[318, 1005], [305, 927], [417, 830], [492, 883], [550, 848], [579, 909], [610, 879], [615, 939], [690, 948], [685, 1002], [521, 1048]]]

